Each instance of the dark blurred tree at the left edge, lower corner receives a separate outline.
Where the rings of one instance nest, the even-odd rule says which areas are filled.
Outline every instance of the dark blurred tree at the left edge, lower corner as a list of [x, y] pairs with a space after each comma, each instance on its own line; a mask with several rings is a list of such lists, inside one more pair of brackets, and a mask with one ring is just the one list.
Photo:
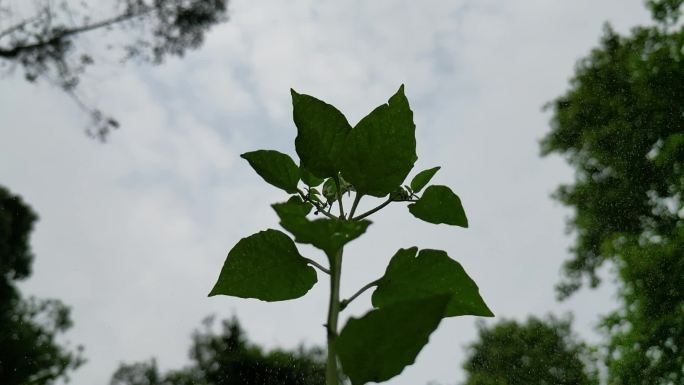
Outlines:
[[29, 236], [37, 216], [0, 186], [0, 384], [52, 384], [83, 363], [81, 348], [58, 343], [71, 327], [57, 300], [23, 298], [16, 281], [31, 275]]

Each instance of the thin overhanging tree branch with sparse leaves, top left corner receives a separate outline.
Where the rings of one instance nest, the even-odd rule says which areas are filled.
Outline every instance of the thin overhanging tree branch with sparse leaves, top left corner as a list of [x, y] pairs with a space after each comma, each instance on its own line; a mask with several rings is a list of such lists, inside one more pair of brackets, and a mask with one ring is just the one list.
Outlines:
[[[119, 123], [79, 98], [77, 87], [88, 66], [104, 51], [112, 51], [115, 60], [160, 64], [201, 46], [205, 33], [227, 19], [226, 0], [33, 4], [0, 3], [0, 69], [19, 69], [30, 82], [43, 80], [62, 88], [89, 112], [89, 133], [100, 139]], [[97, 37], [97, 44], [88, 44], [86, 35]]]

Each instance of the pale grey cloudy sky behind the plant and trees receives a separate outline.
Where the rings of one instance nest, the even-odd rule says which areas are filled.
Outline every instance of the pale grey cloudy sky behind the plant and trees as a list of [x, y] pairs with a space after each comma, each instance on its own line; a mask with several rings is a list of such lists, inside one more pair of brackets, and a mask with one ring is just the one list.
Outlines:
[[[439, 248], [497, 318], [571, 311], [577, 333], [597, 341], [599, 315], [615, 307], [611, 285], [562, 303], [553, 291], [572, 236], [571, 212], [550, 194], [572, 170], [539, 156], [550, 118], [542, 107], [567, 89], [604, 22], [626, 32], [648, 20], [641, 1], [234, 0], [229, 10], [230, 21], [183, 59], [109, 63], [85, 78], [89, 100], [122, 124], [106, 144], [83, 134], [86, 117], [59, 90], [0, 80], [0, 184], [40, 216], [22, 289], [72, 307], [66, 339], [88, 360], [72, 384], [107, 384], [120, 362], [184, 365], [191, 332], [209, 314], [236, 315], [269, 348], [324, 343], [324, 276], [292, 301], [207, 298], [230, 247], [278, 227], [270, 204], [286, 196], [239, 154], [265, 148], [296, 159], [290, 88], [355, 124], [405, 84], [417, 126], [411, 175], [442, 166], [434, 182], [452, 187], [469, 217], [461, 229], [416, 220], [401, 204], [374, 215], [345, 250], [343, 297], [381, 276], [398, 248]], [[342, 319], [369, 307], [366, 294]], [[387, 384], [462, 381], [475, 324], [444, 320]]]

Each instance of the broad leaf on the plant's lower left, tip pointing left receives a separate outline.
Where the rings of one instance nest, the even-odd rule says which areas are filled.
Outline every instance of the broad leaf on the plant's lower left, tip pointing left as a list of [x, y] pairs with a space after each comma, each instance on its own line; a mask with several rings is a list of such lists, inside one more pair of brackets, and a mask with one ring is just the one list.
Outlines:
[[316, 270], [292, 239], [268, 229], [241, 239], [230, 250], [209, 296], [284, 301], [303, 296], [317, 280]]

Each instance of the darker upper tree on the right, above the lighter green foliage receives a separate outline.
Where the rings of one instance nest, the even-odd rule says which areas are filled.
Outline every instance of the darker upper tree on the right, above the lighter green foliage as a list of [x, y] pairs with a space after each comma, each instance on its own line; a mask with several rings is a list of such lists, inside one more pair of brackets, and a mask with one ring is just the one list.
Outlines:
[[[552, 104], [544, 154], [564, 155], [572, 184], [556, 197], [575, 209], [574, 258], [565, 265], [571, 294], [620, 254], [629, 237], [667, 239], [681, 225], [684, 192], [684, 30], [607, 27], [601, 45], [581, 60], [570, 90]], [[613, 247], [615, 246], [615, 247]]]

